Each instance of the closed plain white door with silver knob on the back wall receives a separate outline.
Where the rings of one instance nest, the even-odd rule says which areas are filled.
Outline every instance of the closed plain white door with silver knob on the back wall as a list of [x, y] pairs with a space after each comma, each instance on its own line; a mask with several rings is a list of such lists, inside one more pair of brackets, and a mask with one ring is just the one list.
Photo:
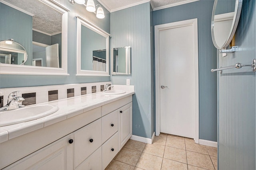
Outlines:
[[198, 131], [197, 20], [194, 21], [194, 25], [185, 21], [163, 24], [165, 27], [158, 29], [156, 50], [160, 132], [193, 139]]

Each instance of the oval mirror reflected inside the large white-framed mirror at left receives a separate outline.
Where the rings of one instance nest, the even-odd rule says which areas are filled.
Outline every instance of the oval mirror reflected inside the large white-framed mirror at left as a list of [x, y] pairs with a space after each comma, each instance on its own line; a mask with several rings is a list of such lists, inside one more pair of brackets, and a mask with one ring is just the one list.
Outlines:
[[22, 65], [27, 59], [27, 51], [22, 45], [13, 39], [0, 41], [0, 63]]

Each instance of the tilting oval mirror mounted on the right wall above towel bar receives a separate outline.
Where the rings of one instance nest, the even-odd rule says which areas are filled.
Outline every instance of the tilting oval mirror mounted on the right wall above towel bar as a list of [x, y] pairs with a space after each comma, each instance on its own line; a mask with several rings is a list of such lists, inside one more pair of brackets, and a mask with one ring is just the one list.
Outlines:
[[212, 41], [217, 49], [230, 44], [238, 25], [242, 0], [215, 0], [212, 10]]

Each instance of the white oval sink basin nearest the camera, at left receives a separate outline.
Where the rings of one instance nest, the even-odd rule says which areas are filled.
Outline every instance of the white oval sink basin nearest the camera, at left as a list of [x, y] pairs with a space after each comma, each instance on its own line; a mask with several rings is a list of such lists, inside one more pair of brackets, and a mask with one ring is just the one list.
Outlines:
[[58, 111], [57, 106], [39, 105], [0, 112], [0, 127], [39, 119]]

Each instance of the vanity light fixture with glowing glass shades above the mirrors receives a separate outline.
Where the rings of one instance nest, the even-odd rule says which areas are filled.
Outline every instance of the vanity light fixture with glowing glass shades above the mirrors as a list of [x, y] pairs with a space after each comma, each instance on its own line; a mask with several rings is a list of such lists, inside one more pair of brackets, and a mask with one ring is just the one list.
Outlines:
[[96, 5], [96, 6], [99, 6], [99, 7], [97, 9], [97, 12], [95, 12], [96, 11], [96, 6], [95, 6], [93, 0], [88, 0], [87, 4], [85, 4], [85, 0], [68, 0], [68, 2], [70, 2], [70, 4], [75, 4], [75, 2], [77, 4], [84, 4], [84, 6], [86, 6], [86, 10], [96, 14], [97, 18], [99, 18], [99, 19], [105, 18], [103, 8], [100, 6], [100, 4]]

